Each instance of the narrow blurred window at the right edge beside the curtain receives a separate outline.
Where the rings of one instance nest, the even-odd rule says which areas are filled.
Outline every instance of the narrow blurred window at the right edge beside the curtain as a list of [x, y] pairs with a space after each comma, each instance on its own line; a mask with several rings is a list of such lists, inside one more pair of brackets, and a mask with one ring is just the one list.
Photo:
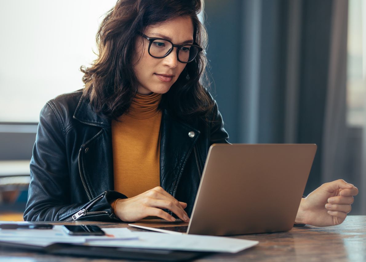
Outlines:
[[347, 47], [347, 124], [366, 125], [366, 1], [349, 0]]

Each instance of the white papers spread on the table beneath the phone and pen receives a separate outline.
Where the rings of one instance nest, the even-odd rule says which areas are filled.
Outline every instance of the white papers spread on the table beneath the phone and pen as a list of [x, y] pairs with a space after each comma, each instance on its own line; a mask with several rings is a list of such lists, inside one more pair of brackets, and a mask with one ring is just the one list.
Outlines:
[[257, 245], [258, 241], [232, 237], [171, 235], [155, 232], [131, 232], [127, 228], [102, 228], [108, 236], [70, 236], [61, 226], [53, 229], [0, 230], [0, 241], [45, 247], [52, 243], [85, 243], [102, 247], [133, 247], [166, 250], [236, 253]]

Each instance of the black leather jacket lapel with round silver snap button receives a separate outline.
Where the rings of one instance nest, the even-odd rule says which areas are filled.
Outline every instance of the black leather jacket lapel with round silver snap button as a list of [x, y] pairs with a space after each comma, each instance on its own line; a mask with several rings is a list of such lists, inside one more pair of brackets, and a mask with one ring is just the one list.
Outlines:
[[163, 110], [161, 117], [160, 131], [160, 185], [165, 191], [175, 196], [184, 166], [200, 131], [176, 120], [166, 109]]

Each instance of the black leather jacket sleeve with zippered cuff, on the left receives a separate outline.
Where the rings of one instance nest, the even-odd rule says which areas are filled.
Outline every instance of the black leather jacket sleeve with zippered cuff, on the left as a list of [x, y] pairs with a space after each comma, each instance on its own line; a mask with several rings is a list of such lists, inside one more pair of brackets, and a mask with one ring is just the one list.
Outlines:
[[30, 184], [24, 220], [120, 221], [109, 203], [126, 196], [116, 191], [105, 191], [87, 203], [72, 203], [64, 135], [59, 114], [47, 103], [40, 113], [30, 162]]

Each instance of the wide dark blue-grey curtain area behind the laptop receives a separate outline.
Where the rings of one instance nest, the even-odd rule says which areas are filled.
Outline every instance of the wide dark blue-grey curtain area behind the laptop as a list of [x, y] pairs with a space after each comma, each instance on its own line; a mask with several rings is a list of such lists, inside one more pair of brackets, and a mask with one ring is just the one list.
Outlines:
[[[361, 180], [349, 169], [355, 152], [347, 151], [347, 6], [347, 0], [205, 2], [212, 89], [229, 141], [316, 143], [305, 194], [334, 179]], [[357, 201], [352, 214], [361, 213]]]

